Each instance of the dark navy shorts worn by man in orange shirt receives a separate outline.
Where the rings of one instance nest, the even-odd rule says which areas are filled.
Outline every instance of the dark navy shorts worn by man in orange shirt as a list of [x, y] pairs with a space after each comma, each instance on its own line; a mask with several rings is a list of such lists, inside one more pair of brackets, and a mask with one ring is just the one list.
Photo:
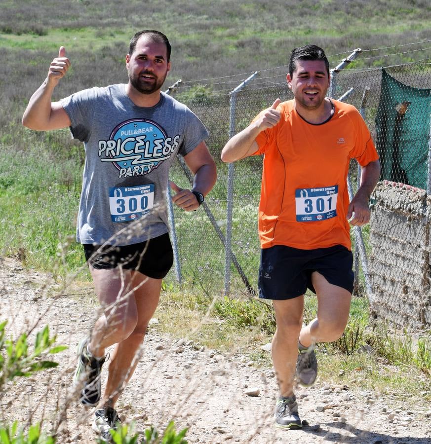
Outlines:
[[285, 245], [261, 250], [259, 297], [285, 300], [313, 293], [311, 275], [318, 271], [333, 285], [353, 292], [353, 255], [343, 245], [300, 250]]

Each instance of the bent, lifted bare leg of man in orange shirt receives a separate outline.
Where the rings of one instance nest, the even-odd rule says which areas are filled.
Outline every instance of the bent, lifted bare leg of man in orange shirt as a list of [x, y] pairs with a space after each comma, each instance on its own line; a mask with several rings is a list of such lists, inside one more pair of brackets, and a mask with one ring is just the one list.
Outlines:
[[346, 328], [352, 299], [346, 289], [330, 284], [317, 271], [312, 274], [312, 282], [317, 296], [317, 317], [301, 330], [299, 341], [304, 347], [337, 340]]

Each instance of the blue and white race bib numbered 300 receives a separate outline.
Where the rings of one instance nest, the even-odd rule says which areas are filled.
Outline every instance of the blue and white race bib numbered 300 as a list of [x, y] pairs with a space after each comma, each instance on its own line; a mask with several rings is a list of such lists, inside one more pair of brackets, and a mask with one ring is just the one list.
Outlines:
[[110, 188], [109, 207], [112, 222], [140, 218], [154, 207], [154, 184]]

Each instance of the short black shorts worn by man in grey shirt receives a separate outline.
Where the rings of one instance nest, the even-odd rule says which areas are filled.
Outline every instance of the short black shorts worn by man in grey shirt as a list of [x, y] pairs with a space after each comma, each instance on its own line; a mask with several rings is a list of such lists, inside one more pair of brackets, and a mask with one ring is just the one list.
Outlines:
[[171, 269], [174, 255], [169, 234], [138, 244], [116, 247], [83, 244], [85, 259], [93, 268], [117, 268], [140, 271], [145, 276], [162, 279]]

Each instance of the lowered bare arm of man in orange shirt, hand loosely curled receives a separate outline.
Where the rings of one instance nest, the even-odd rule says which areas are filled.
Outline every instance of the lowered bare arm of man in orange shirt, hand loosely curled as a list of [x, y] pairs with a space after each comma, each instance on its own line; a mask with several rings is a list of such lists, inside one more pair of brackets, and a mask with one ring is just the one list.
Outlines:
[[374, 160], [368, 165], [362, 167], [361, 185], [354, 195], [352, 202], [347, 210], [347, 219], [353, 216], [350, 221], [351, 225], [365, 225], [370, 222], [370, 207], [368, 201], [370, 199], [373, 189], [377, 185], [380, 176], [380, 161]]

